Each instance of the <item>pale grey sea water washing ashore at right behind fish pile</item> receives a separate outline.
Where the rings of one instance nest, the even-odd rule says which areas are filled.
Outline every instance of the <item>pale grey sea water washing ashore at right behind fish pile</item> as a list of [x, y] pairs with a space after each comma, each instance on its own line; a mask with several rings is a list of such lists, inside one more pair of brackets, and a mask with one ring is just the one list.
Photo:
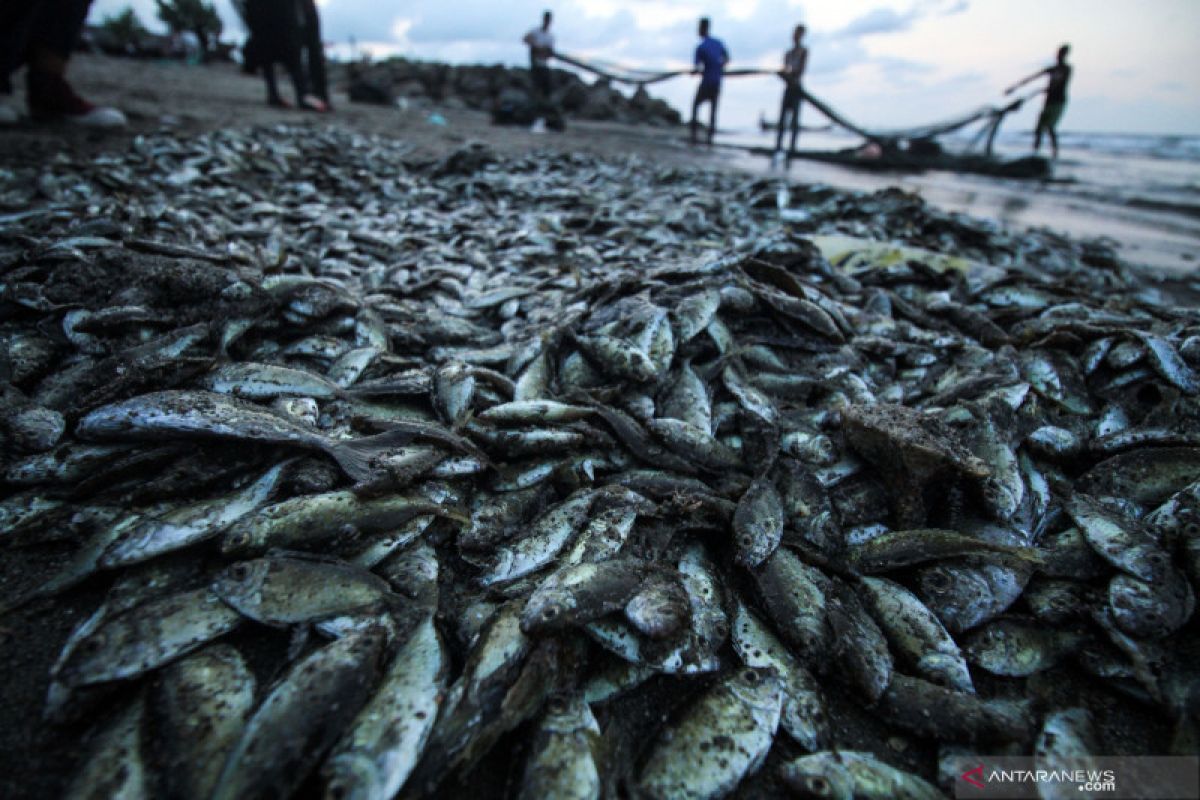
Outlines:
[[[941, 137], [952, 152], [965, 151], [970, 132]], [[1049, 228], [1112, 243], [1127, 260], [1172, 271], [1200, 266], [1200, 137], [1062, 132], [1051, 175], [1039, 180], [1001, 179], [944, 170], [877, 173], [796, 160], [780, 167], [750, 149], [773, 148], [774, 131], [719, 132], [718, 145], [738, 166], [790, 181], [876, 191], [898, 186], [949, 211], [998, 221], [1010, 228]], [[1030, 131], [1001, 131], [995, 154], [1018, 158], [1032, 152]], [[829, 130], [802, 131], [799, 149], [840, 150], [862, 140]], [[1043, 155], [1049, 143], [1043, 142]]]

